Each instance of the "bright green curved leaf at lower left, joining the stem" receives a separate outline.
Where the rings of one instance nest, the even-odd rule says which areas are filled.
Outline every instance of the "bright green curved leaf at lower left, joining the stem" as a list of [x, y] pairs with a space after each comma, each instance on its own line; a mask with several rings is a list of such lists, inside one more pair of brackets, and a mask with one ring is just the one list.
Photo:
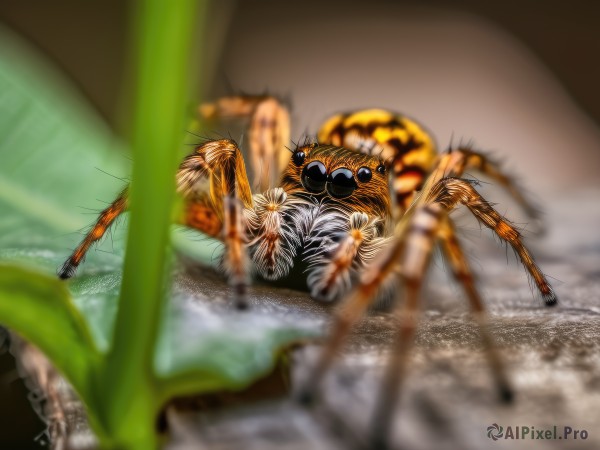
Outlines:
[[92, 401], [91, 375], [100, 354], [63, 283], [0, 265], [0, 317], [42, 350], [86, 403]]

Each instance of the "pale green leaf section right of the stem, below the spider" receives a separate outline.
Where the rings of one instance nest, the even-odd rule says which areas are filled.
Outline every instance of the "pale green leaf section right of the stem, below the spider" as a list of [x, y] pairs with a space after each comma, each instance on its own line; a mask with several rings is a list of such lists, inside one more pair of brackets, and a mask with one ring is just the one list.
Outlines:
[[273, 370], [281, 349], [323, 336], [326, 308], [306, 295], [270, 286], [250, 294], [249, 310], [238, 311], [214, 275], [177, 276], [155, 361], [164, 397], [243, 389]]

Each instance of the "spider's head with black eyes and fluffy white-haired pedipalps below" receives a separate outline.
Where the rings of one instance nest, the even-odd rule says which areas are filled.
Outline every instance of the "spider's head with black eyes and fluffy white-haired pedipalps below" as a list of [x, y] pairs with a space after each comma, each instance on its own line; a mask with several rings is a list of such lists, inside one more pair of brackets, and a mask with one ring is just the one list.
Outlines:
[[312, 296], [333, 300], [385, 243], [390, 213], [381, 159], [332, 145], [298, 146], [281, 187], [255, 195], [246, 212], [249, 251], [262, 278], [286, 277], [299, 265]]

